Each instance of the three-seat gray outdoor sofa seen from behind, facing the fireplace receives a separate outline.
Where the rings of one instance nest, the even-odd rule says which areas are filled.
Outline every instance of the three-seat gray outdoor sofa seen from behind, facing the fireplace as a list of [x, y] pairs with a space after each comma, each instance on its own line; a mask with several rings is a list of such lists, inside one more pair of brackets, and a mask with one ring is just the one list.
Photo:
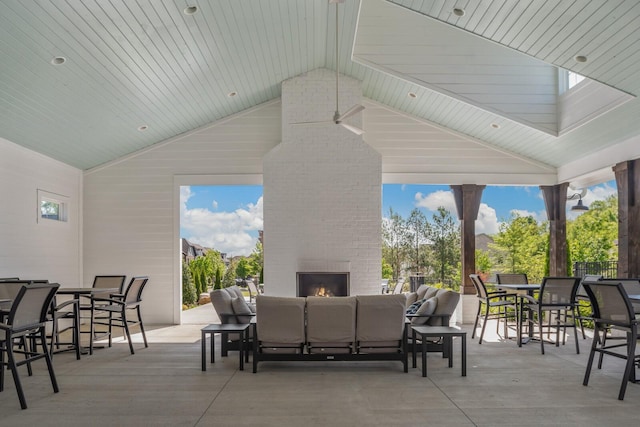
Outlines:
[[397, 360], [407, 372], [405, 295], [259, 295], [253, 372], [262, 361]]

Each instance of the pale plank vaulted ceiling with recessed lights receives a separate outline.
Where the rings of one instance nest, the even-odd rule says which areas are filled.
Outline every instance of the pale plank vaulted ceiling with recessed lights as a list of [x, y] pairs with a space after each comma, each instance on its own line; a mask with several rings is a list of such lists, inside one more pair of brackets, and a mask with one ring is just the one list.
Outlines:
[[[396, 62], [352, 60], [359, 35], [368, 32], [371, 42], [379, 38], [376, 28], [358, 27], [359, 18], [364, 22], [361, 9], [377, 3], [411, 14], [410, 24], [389, 20], [384, 28], [405, 47], [411, 46], [407, 37], [412, 32], [428, 31], [436, 44], [424, 54], [457, 48], [462, 53], [458, 67], [467, 69], [473, 62], [464, 55], [476, 44], [496, 48], [493, 63], [498, 66], [486, 67], [487, 79], [507, 84], [504, 58], [517, 54], [525, 64], [570, 69], [635, 96], [640, 92], [638, 1], [360, 3], [346, 0], [339, 6], [340, 71], [363, 82], [369, 99], [365, 141], [382, 152], [389, 174], [426, 170], [436, 163], [443, 173], [445, 165], [456, 172], [456, 156], [481, 165], [480, 171], [495, 168], [507, 156], [546, 175], [640, 135], [637, 98], [558, 137], [552, 117], [557, 105], [520, 102], [517, 108], [504, 103], [488, 108], [481, 105], [483, 96], [471, 92], [461, 99], [455, 81], [434, 81], [429, 73], [408, 78], [415, 70], [407, 60], [415, 65], [423, 58], [411, 55], [411, 49], [405, 48]], [[185, 13], [189, 6], [197, 6], [197, 12]], [[188, 134], [279, 98], [284, 79], [334, 68], [333, 7], [327, 0], [0, 0], [0, 137], [90, 169]], [[464, 14], [456, 15], [456, 8]], [[434, 28], [454, 34], [459, 45], [447, 45], [452, 37], [431, 34]], [[577, 62], [577, 55], [587, 61]], [[66, 62], [53, 65], [56, 57]], [[440, 62], [432, 72], [446, 75], [447, 64]], [[536, 77], [536, 67], [526, 68], [522, 75], [509, 71], [511, 82], [529, 83], [534, 95], [549, 92], [548, 71]], [[232, 92], [236, 95], [229, 96]], [[551, 93], [541, 96], [553, 98]], [[140, 126], [148, 129], [139, 131]], [[277, 127], [265, 129], [270, 132], [265, 139], [273, 141]], [[442, 132], [435, 135], [433, 129]], [[447, 130], [476, 149], [443, 140]], [[238, 140], [244, 138], [239, 132]], [[230, 136], [225, 146], [233, 141]], [[422, 153], [419, 160], [416, 153]]]

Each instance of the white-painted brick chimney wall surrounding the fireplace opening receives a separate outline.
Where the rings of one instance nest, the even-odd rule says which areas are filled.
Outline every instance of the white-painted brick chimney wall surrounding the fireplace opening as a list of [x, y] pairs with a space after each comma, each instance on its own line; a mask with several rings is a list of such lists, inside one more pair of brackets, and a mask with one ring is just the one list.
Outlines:
[[[340, 78], [340, 111], [361, 100]], [[282, 84], [282, 143], [264, 158], [265, 290], [294, 296], [296, 272], [348, 267], [351, 294], [380, 292], [380, 154], [334, 123], [335, 74], [319, 69]], [[361, 114], [348, 120], [359, 126]]]

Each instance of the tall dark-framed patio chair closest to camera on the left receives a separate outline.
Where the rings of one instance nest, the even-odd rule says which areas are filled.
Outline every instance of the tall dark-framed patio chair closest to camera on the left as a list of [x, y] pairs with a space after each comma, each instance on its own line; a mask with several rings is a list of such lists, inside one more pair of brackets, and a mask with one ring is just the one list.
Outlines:
[[[13, 376], [22, 409], [27, 408], [27, 401], [20, 382], [19, 366], [24, 364], [30, 366], [36, 360], [45, 359], [53, 391], [58, 392], [58, 383], [46, 343], [45, 324], [51, 301], [59, 287], [58, 283], [23, 285], [13, 301], [6, 321], [0, 323], [0, 391], [4, 389], [4, 367], [6, 366]], [[25, 337], [33, 340], [35, 345], [14, 349], [14, 341]], [[16, 360], [16, 354], [24, 355], [24, 359]]]

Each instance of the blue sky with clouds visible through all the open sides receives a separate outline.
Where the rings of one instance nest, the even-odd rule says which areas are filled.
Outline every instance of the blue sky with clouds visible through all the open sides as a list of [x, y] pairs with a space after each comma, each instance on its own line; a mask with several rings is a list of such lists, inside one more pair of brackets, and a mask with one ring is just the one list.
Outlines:
[[[584, 203], [603, 200], [616, 193], [615, 181], [587, 190]], [[184, 186], [180, 189], [180, 236], [193, 243], [212, 247], [228, 255], [249, 255], [262, 230], [262, 186]], [[575, 201], [567, 202], [567, 208]], [[385, 184], [382, 188], [382, 215], [389, 208], [404, 218], [419, 208], [429, 218], [444, 206], [457, 218], [453, 194], [448, 185]], [[476, 221], [476, 233], [494, 234], [500, 222], [512, 213], [546, 219], [540, 189], [535, 187], [487, 186]], [[578, 214], [567, 211], [568, 218]]]

